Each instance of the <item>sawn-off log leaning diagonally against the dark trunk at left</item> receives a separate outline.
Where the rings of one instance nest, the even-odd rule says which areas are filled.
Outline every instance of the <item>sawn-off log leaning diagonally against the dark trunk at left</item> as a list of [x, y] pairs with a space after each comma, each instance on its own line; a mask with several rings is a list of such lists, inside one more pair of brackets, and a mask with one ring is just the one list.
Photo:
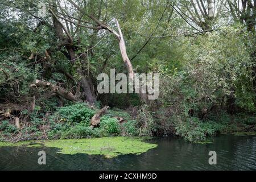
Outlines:
[[61, 86], [53, 85], [50, 82], [45, 82], [42, 80], [36, 80], [35, 84], [31, 84], [31, 86], [41, 86], [49, 88], [52, 92], [56, 93], [57, 95], [69, 100], [69, 101], [81, 101], [80, 98], [77, 98], [74, 94], [71, 92], [68, 92]]

